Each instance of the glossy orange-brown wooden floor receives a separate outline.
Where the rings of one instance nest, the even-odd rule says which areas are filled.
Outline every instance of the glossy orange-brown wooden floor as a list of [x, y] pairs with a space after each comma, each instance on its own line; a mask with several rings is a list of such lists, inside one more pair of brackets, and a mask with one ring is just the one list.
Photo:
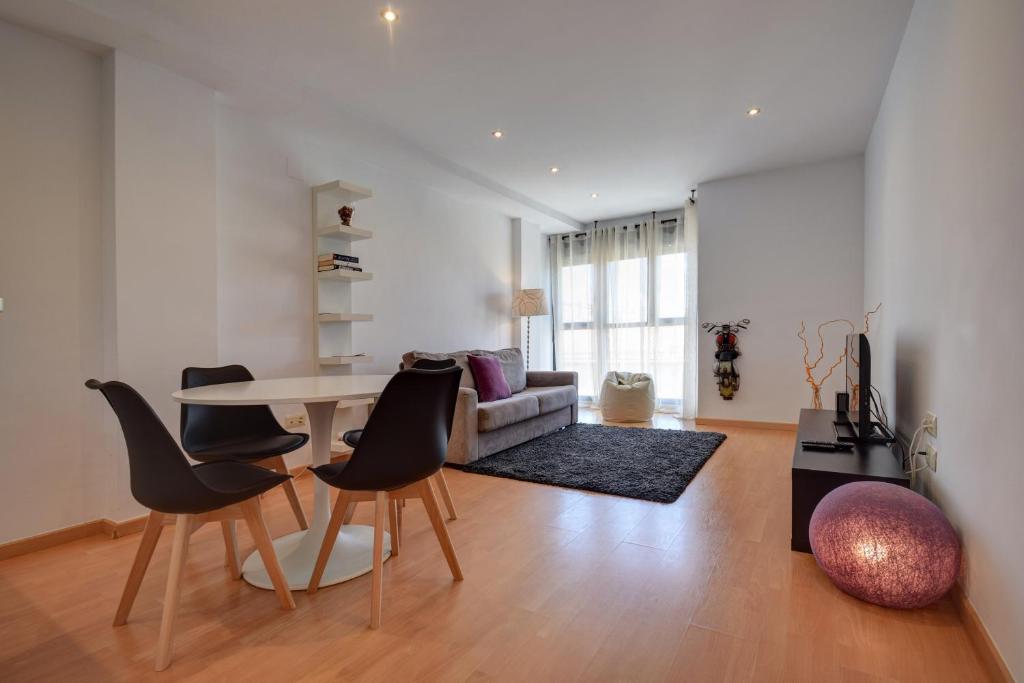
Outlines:
[[[656, 426], [682, 427], [670, 417]], [[119, 629], [137, 535], [5, 560], [0, 681], [984, 680], [948, 600], [868, 605], [788, 550], [792, 432], [724, 431], [672, 505], [449, 470], [466, 581], [453, 583], [411, 504], [377, 632], [367, 628], [369, 574], [295, 593], [298, 608], [283, 612], [272, 592], [230, 580], [208, 525], [189, 550], [162, 674], [153, 660], [172, 535]], [[308, 510], [310, 478], [298, 487]], [[284, 494], [264, 500], [271, 532], [295, 530]], [[360, 507], [355, 521], [367, 522]], [[247, 536], [240, 543], [251, 551]]]

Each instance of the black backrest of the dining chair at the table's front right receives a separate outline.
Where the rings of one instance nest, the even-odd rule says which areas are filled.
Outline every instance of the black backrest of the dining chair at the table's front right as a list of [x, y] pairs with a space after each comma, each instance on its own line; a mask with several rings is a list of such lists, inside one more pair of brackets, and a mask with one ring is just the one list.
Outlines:
[[349, 490], [392, 490], [437, 472], [461, 368], [403, 370], [387, 383], [341, 476]]

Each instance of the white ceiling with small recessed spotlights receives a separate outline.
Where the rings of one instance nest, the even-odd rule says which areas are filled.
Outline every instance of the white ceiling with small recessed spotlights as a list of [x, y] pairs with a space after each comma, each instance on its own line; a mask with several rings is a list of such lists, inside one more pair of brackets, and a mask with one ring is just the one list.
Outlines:
[[117, 25], [86, 38], [144, 34], [226, 91], [301, 87], [450, 172], [590, 221], [862, 152], [912, 2], [400, 0], [393, 40], [383, 0], [53, 4]]

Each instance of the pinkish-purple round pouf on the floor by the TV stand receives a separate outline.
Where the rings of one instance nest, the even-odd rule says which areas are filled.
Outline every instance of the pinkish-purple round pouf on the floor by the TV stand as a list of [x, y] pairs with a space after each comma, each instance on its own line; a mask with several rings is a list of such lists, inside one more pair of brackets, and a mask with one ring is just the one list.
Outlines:
[[818, 566], [850, 595], [885, 607], [924, 607], [952, 588], [961, 547], [931, 501], [882, 481], [848, 483], [811, 515]]

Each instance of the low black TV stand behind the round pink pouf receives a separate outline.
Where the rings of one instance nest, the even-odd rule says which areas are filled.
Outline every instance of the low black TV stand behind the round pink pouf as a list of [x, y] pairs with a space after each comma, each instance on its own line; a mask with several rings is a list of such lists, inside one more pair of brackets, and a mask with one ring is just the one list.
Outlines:
[[836, 438], [836, 411], [800, 412], [797, 444], [793, 452], [793, 536], [790, 548], [811, 552], [808, 526], [811, 514], [825, 495], [851, 481], [887, 481], [910, 485], [910, 476], [885, 443], [856, 443], [853, 451], [830, 453], [808, 451], [801, 441], [831, 441]]

